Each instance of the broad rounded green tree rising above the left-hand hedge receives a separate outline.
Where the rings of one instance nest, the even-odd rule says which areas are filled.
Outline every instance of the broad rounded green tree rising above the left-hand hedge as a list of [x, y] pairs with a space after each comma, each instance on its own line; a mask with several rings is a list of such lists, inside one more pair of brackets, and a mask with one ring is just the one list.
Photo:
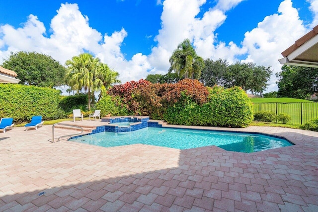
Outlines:
[[65, 85], [66, 68], [51, 56], [36, 52], [11, 52], [1, 65], [14, 71], [23, 85], [58, 87]]

